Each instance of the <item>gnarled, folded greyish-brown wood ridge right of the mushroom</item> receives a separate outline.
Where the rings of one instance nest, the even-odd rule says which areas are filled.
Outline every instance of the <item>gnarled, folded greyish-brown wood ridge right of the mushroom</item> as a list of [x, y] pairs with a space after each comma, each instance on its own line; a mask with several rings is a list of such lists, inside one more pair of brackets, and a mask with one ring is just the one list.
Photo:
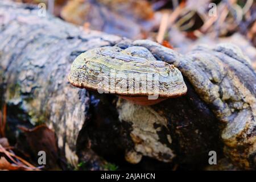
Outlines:
[[198, 47], [182, 56], [147, 40], [134, 42], [174, 64], [221, 122], [224, 152], [241, 168], [255, 168], [256, 73], [233, 44]]

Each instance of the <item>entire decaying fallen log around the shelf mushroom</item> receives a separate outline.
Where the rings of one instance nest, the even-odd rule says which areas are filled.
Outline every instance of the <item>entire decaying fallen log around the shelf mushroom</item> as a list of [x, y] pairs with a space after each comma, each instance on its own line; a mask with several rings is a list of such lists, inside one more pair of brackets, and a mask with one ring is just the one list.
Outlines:
[[[185, 77], [187, 95], [154, 106], [69, 84], [73, 60], [89, 49], [127, 46], [127, 40], [85, 32], [27, 5], [0, 2], [0, 84], [3, 101], [22, 109], [32, 123], [55, 130], [68, 162], [88, 169], [106, 161], [208, 163], [224, 152], [238, 167], [255, 167], [255, 72], [239, 49], [199, 47], [181, 55], [139, 40], [155, 57]], [[233, 52], [236, 50], [237, 52]], [[18, 116], [17, 116], [18, 117]], [[220, 136], [222, 140], [220, 140]], [[146, 160], [146, 158], [145, 158]]]

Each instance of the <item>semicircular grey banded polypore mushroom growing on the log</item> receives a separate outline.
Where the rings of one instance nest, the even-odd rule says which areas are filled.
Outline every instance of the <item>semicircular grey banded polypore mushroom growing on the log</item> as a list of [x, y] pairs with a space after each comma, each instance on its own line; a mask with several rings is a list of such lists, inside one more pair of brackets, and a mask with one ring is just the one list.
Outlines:
[[153, 105], [187, 92], [179, 69], [138, 46], [108, 46], [81, 53], [68, 79], [76, 87], [117, 94], [139, 105]]

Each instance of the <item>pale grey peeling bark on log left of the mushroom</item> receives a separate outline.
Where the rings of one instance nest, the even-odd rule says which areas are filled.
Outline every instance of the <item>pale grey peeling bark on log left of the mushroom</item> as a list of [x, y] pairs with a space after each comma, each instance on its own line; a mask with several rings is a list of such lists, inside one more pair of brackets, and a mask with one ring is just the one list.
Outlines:
[[22, 108], [34, 124], [47, 122], [71, 164], [79, 131], [86, 122], [89, 98], [67, 75], [72, 61], [87, 49], [111, 46], [121, 38], [84, 32], [35, 6], [0, 2], [0, 84], [5, 102]]

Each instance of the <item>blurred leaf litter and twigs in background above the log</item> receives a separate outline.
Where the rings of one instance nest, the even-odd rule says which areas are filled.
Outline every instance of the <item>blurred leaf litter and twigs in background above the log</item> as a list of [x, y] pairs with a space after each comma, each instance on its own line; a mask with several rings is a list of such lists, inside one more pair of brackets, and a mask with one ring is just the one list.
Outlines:
[[[181, 53], [199, 43], [238, 44], [256, 60], [254, 0], [13, 0], [38, 5], [85, 30], [151, 39]], [[255, 64], [254, 64], [255, 67]]]

